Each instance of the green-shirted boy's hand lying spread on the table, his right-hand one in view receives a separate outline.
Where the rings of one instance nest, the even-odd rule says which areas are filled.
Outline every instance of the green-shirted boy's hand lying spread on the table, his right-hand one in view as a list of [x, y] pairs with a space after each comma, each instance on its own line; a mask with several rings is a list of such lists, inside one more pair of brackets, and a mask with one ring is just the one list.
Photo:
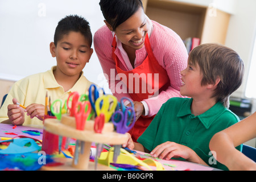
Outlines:
[[189, 160], [193, 150], [182, 144], [177, 144], [175, 142], [165, 142], [156, 146], [154, 150], [150, 152], [154, 158], [158, 157], [160, 159], [170, 160], [171, 158], [184, 158]]

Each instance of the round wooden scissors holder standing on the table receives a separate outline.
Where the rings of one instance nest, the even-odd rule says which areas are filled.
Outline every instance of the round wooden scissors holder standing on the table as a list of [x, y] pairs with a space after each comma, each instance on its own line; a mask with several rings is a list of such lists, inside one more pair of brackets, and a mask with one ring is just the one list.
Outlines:
[[[74, 155], [72, 162], [68, 162], [67, 158], [63, 167], [58, 167], [59, 170], [94, 170], [94, 163], [89, 161], [90, 158], [90, 146], [92, 142], [96, 143], [108, 143], [108, 144], [123, 144], [127, 141], [127, 134], [119, 134], [114, 132], [113, 123], [105, 123], [102, 133], [94, 132], [94, 121], [86, 121], [84, 130], [76, 129], [75, 117], [68, 115], [62, 115], [61, 120], [49, 118], [44, 121], [44, 130], [49, 133], [60, 135], [67, 138], [75, 138], [81, 142], [85, 142], [83, 152], [79, 152], [78, 161], [75, 164]], [[77, 146], [76, 146], [77, 147]], [[97, 164], [98, 170], [113, 170], [113, 168]], [[46, 170], [56, 170], [53, 167], [44, 167]]]

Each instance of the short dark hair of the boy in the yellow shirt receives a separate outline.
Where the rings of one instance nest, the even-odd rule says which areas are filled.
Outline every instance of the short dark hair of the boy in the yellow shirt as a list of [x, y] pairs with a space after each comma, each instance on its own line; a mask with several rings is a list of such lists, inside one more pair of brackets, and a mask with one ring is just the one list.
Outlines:
[[78, 15], [69, 15], [61, 19], [55, 29], [54, 44], [63, 38], [63, 35], [71, 31], [81, 32], [82, 35], [88, 40], [89, 46], [92, 46], [92, 32], [90, 31], [89, 22]]

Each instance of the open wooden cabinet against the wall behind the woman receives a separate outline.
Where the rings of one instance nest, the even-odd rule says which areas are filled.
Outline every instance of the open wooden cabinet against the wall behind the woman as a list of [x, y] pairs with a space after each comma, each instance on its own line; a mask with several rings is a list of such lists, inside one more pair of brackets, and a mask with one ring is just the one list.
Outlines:
[[213, 6], [171, 0], [143, 0], [148, 18], [174, 30], [181, 39], [200, 38], [203, 43], [225, 44], [230, 14]]

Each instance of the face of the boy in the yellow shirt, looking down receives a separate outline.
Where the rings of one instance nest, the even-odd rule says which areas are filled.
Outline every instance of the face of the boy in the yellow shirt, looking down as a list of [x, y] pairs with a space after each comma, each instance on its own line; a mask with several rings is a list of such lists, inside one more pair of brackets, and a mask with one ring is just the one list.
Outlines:
[[89, 62], [93, 49], [80, 32], [71, 31], [64, 35], [57, 46], [50, 44], [52, 57], [56, 57], [56, 72], [62, 76], [80, 76], [86, 63]]

